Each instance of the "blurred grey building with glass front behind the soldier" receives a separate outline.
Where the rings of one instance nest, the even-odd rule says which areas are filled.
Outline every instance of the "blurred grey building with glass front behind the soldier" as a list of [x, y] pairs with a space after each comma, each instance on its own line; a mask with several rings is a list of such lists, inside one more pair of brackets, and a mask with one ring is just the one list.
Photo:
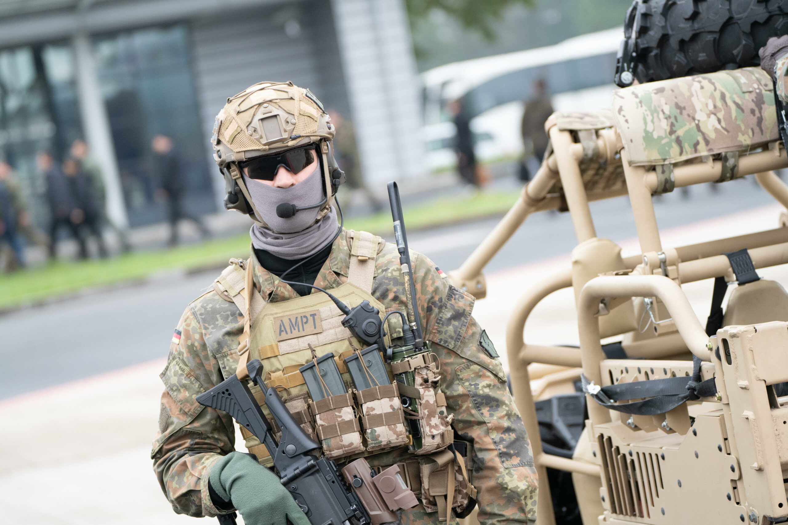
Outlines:
[[[374, 185], [424, 172], [403, 0], [0, 0], [0, 158], [31, 201], [35, 153], [85, 139], [118, 225], [164, 220], [151, 139], [173, 138], [195, 213], [224, 183], [209, 146], [225, 99], [261, 80], [310, 87], [349, 116]], [[34, 206], [34, 216], [43, 205]]]

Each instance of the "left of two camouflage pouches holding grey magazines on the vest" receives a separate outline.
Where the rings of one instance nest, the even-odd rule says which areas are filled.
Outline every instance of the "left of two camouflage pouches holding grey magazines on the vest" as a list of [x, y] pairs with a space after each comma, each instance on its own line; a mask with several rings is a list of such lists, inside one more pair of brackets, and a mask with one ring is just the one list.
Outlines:
[[364, 450], [352, 392], [312, 401], [310, 409], [325, 457], [344, 457]]

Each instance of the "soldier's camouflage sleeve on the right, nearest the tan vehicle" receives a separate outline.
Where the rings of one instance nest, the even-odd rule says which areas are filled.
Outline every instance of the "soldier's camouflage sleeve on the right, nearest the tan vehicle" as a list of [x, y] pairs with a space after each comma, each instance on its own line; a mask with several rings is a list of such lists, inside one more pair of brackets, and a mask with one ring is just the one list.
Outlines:
[[470, 315], [474, 298], [452, 287], [422, 255], [414, 273], [425, 338], [440, 357], [441, 389], [455, 415], [452, 426], [473, 443], [479, 521], [533, 523], [537, 473], [530, 442], [495, 349], [479, 342], [481, 327]]

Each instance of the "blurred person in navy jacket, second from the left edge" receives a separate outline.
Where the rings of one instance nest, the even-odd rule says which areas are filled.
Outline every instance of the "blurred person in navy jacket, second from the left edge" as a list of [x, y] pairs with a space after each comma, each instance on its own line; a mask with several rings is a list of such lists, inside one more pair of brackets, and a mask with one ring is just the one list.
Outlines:
[[36, 161], [39, 170], [46, 179], [46, 200], [50, 207], [50, 260], [58, 257], [58, 231], [65, 227], [72, 235], [79, 247], [80, 259], [87, 258], [87, 246], [84, 239], [80, 236], [75, 219], [80, 218], [80, 211], [76, 208], [72, 185], [69, 179], [63, 174], [61, 168], [55, 164], [50, 153], [42, 151], [38, 154]]

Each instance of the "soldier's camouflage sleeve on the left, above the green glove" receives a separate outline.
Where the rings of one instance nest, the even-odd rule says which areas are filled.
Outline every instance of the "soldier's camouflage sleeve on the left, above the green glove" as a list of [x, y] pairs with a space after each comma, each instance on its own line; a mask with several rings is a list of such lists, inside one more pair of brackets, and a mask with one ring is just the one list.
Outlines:
[[213, 464], [232, 452], [232, 419], [199, 405], [195, 397], [221, 383], [217, 361], [210, 356], [201, 324], [191, 306], [178, 324], [180, 340], [173, 336], [164, 382], [158, 435], [151, 459], [159, 484], [175, 512], [188, 516], [216, 516], [208, 494]]

